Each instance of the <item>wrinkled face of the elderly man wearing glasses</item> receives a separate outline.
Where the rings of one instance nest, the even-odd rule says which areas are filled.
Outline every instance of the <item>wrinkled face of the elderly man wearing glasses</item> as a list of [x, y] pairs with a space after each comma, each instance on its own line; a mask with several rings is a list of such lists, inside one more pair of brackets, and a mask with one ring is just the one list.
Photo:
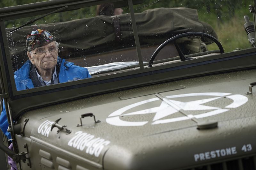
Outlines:
[[38, 47], [28, 53], [28, 58], [34, 64], [37, 70], [52, 70], [57, 64], [58, 48], [56, 41], [53, 41], [45, 46]]

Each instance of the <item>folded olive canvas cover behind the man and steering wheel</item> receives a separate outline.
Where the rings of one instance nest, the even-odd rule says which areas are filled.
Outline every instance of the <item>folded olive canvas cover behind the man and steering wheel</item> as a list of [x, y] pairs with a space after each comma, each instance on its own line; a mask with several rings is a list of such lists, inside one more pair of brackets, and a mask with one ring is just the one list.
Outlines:
[[[120, 37], [116, 38], [113, 18], [120, 25]], [[197, 10], [190, 8], [156, 8], [135, 13], [140, 45], [160, 45], [174, 35], [185, 32], [203, 32], [217, 38], [212, 26], [198, 20]], [[97, 16], [68, 22], [25, 26], [12, 34], [9, 47], [11, 56], [27, 58], [26, 36], [35, 29], [45, 29], [55, 36], [63, 49], [83, 50], [84, 55], [93, 55], [106, 50], [135, 47], [130, 14], [118, 16]], [[211, 40], [202, 39], [206, 44]], [[14, 46], [14, 47], [13, 47]], [[65, 51], [65, 50], [64, 50]], [[69, 52], [70, 54], [70, 52]], [[72, 55], [70, 55], [72, 57]], [[65, 57], [64, 57], [65, 58]]]

